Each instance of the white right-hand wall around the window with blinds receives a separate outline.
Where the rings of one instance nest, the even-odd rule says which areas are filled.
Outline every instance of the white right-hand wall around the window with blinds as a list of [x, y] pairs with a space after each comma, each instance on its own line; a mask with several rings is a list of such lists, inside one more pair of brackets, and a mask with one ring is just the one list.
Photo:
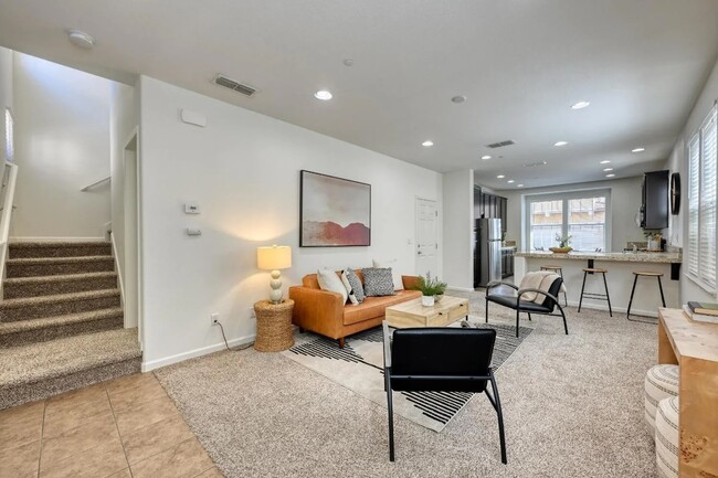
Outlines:
[[[668, 237], [671, 238], [671, 244], [684, 248], [684, 255], [688, 253], [688, 160], [687, 160], [687, 148], [690, 137], [698, 130], [700, 124], [708, 115], [708, 111], [712, 107], [714, 103], [718, 99], [718, 62], [712, 68], [708, 81], [704, 89], [700, 92], [696, 99], [696, 104], [688, 116], [688, 120], [684, 126], [680, 135], [676, 139], [676, 142], [673, 147], [671, 157], [666, 161], [666, 169], [669, 169], [671, 172], [680, 173], [682, 182], [682, 195], [680, 195], [680, 213], [678, 216], [671, 216], [671, 225], [668, 231]], [[685, 274], [685, 269], [682, 269], [682, 273]], [[696, 283], [690, 280], [685, 275], [680, 280], [680, 299], [685, 304], [688, 300], [706, 300], [712, 301], [716, 299], [714, 294], [709, 294], [704, 290]]]

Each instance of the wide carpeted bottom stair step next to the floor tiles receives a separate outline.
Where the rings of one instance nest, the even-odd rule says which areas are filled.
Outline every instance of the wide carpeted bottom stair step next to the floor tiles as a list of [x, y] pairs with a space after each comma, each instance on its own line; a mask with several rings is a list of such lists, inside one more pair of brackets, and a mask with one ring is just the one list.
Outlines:
[[0, 349], [0, 410], [140, 371], [137, 329]]

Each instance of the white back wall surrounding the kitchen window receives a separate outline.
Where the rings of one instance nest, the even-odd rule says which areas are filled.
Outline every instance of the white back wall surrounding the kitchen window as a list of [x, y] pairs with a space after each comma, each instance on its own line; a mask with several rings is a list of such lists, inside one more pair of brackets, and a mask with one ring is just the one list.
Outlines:
[[516, 241], [519, 251], [524, 251], [521, 238], [522, 208], [528, 194], [576, 191], [581, 189], [611, 190], [611, 248], [623, 251], [629, 241], [645, 241], [643, 230], [635, 223], [635, 215], [641, 208], [641, 183], [643, 178], [625, 178], [613, 181], [581, 182], [576, 184], [531, 188], [522, 190], [497, 191], [507, 202], [506, 238]]

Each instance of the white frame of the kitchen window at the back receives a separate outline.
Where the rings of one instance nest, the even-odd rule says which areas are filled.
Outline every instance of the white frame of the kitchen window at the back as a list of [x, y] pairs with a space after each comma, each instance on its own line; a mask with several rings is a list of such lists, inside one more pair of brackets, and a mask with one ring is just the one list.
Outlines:
[[611, 208], [611, 190], [612, 188], [590, 188], [590, 189], [578, 189], [569, 191], [556, 191], [556, 192], [545, 192], [536, 194], [525, 194], [524, 201], [521, 202], [521, 245], [525, 252], [531, 252], [531, 245], [529, 244], [529, 238], [531, 234], [531, 203], [534, 202], [543, 202], [543, 201], [562, 201], [562, 221], [561, 221], [561, 234], [563, 236], [568, 235], [569, 231], [569, 201], [572, 199], [588, 199], [604, 196], [605, 198], [605, 223], [603, 226], [604, 234], [604, 248], [603, 252], [611, 251], [611, 225], [612, 221], [612, 208]]

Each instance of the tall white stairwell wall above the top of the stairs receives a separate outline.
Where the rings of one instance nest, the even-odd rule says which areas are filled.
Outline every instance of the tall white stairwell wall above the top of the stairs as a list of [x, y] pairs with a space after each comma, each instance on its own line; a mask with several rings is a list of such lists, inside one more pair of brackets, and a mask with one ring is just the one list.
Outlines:
[[103, 237], [110, 217], [109, 84], [14, 53], [18, 185], [13, 235]]

